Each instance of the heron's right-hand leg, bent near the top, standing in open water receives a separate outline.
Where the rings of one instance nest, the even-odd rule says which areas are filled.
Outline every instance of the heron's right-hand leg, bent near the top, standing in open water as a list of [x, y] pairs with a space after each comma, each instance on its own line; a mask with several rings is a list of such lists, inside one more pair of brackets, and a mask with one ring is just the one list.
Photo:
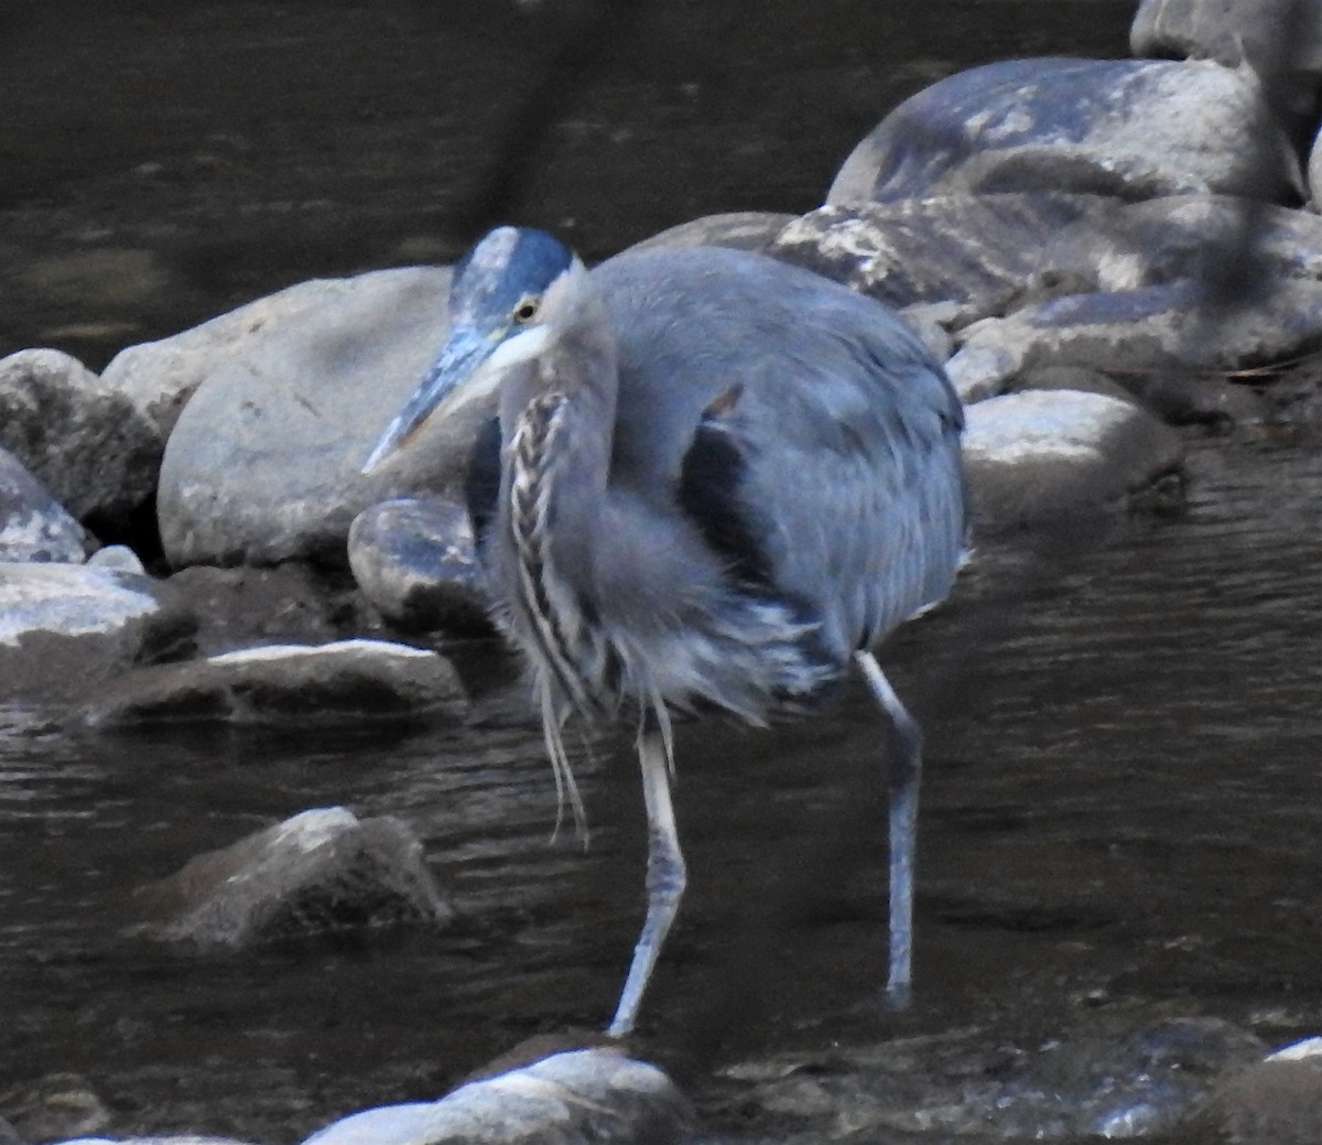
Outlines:
[[887, 760], [890, 795], [891, 951], [886, 993], [908, 1005], [914, 961], [914, 857], [917, 851], [917, 792], [923, 775], [923, 731], [895, 694], [876, 657], [857, 653], [859, 668], [878, 703], [895, 726], [895, 747]]

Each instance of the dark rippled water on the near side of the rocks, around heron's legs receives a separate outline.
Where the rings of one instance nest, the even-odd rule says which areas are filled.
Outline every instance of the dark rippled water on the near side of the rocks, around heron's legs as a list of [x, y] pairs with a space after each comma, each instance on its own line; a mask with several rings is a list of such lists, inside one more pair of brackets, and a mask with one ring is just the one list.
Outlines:
[[[1126, 522], [1051, 578], [1021, 541], [986, 543], [954, 603], [888, 649], [931, 739], [904, 1021], [1183, 998], [1322, 1022], [1322, 457], [1198, 447], [1194, 476], [1186, 514]], [[644, 1014], [654, 1052], [875, 1037], [895, 1019], [853, 1010], [886, 951], [867, 697], [772, 734], [681, 735], [691, 891]], [[550, 842], [531, 719], [266, 742], [78, 739], [4, 714], [0, 1078], [81, 1071], [116, 1129], [282, 1140], [599, 1026], [642, 908], [627, 748], [576, 764], [584, 854]], [[205, 960], [119, 937], [135, 886], [333, 803], [419, 833], [463, 915], [449, 932]]]

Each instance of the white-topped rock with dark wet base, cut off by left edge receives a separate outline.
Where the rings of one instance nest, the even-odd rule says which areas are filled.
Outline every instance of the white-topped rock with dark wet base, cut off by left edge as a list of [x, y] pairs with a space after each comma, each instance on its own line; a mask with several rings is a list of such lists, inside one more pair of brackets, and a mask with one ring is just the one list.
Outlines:
[[0, 695], [58, 702], [185, 649], [193, 616], [159, 582], [79, 565], [0, 563]]

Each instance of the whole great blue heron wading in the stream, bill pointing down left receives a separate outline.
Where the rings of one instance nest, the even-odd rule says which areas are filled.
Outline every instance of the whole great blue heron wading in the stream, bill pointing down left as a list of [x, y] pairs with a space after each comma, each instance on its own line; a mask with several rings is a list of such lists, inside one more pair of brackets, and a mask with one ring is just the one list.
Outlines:
[[857, 662], [896, 729], [890, 968], [910, 989], [920, 732], [871, 648], [960, 563], [960, 402], [886, 307], [717, 247], [588, 272], [501, 227], [456, 266], [452, 331], [365, 469], [456, 391], [498, 386], [469, 508], [506, 632], [531, 662], [557, 785], [571, 714], [631, 714], [648, 910], [609, 1033], [633, 1029], [685, 886], [670, 710], [801, 713]]

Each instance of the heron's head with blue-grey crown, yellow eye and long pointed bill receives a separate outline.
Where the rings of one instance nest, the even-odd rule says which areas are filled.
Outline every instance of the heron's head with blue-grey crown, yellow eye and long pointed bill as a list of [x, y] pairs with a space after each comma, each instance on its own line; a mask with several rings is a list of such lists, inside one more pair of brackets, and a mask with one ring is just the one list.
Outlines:
[[502, 226], [484, 235], [455, 266], [449, 340], [362, 472], [407, 446], [449, 402], [489, 393], [510, 368], [535, 357], [546, 323], [583, 274], [574, 253], [545, 231]]

